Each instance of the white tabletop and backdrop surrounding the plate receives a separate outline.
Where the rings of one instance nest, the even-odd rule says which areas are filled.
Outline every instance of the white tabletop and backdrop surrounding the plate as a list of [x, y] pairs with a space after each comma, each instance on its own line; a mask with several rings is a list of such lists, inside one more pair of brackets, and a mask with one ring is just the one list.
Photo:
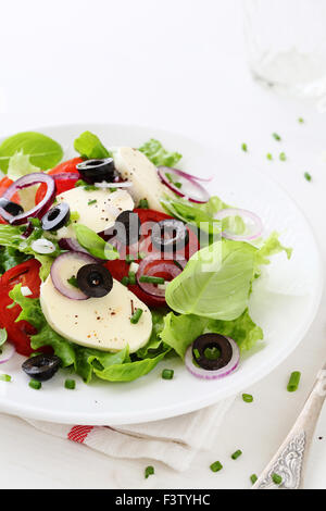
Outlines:
[[[241, 0], [0, 0], [0, 136], [52, 124], [118, 122], [180, 132], [233, 153], [247, 142], [242, 158], [290, 192], [326, 261], [325, 114], [252, 80]], [[277, 161], [281, 150], [286, 162]], [[325, 304], [324, 297], [296, 352], [246, 389], [254, 402], [237, 398], [213, 450], [199, 453], [187, 472], [155, 463], [155, 476], [145, 481], [147, 460], [109, 459], [0, 415], [0, 487], [249, 488], [250, 474], [260, 473], [286, 436], [326, 359]], [[302, 381], [289, 394], [293, 370]], [[233, 461], [236, 449], [243, 456]], [[209, 470], [215, 460], [224, 464], [217, 474]], [[306, 488], [326, 488], [325, 463], [326, 410]]]

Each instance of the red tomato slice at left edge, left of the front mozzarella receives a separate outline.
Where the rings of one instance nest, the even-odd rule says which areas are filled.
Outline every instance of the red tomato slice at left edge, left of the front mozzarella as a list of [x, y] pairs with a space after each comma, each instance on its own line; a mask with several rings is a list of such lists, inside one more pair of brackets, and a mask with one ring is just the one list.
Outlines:
[[39, 269], [40, 263], [36, 259], [30, 259], [8, 270], [0, 279], [0, 326], [7, 329], [8, 337], [15, 346], [16, 351], [27, 357], [33, 352], [30, 348], [30, 335], [35, 335], [36, 329], [27, 321], [18, 321], [15, 323], [15, 320], [22, 311], [20, 306], [16, 304], [11, 309], [7, 307], [12, 303], [9, 291], [20, 283], [22, 283], [22, 286], [29, 287], [33, 292], [30, 298], [39, 297], [41, 284]]

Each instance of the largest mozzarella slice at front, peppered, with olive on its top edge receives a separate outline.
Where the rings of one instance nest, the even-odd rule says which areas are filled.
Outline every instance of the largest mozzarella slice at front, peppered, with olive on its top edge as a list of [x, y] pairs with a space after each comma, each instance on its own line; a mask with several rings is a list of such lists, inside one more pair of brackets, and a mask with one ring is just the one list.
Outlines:
[[[88, 348], [115, 352], [129, 345], [130, 352], [135, 352], [147, 344], [152, 332], [148, 307], [117, 281], [103, 298], [71, 300], [55, 289], [49, 275], [40, 288], [40, 303], [53, 331]], [[143, 313], [133, 324], [136, 309]]]

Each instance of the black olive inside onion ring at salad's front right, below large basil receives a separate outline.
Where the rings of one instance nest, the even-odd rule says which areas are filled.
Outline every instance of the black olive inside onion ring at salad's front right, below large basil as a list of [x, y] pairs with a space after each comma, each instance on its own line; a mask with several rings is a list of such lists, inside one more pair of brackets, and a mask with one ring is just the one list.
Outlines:
[[[213, 356], [214, 351], [218, 357]], [[192, 357], [200, 367], [216, 371], [228, 364], [233, 357], [233, 347], [223, 335], [203, 334], [192, 345]]]

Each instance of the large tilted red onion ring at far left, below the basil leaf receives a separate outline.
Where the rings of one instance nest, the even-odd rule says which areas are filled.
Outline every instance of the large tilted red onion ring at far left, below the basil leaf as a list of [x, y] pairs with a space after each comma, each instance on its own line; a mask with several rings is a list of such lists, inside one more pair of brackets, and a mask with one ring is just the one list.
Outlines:
[[43, 199], [32, 210], [24, 211], [16, 216], [11, 215], [3, 208], [0, 208], [0, 215], [9, 222], [11, 225], [21, 225], [26, 224], [27, 219], [33, 217], [41, 217], [49, 207], [52, 204], [54, 196], [55, 196], [55, 182], [52, 176], [46, 174], [45, 172], [34, 172], [32, 174], [27, 174], [20, 179], [15, 180], [2, 195], [8, 200], [11, 200], [12, 196], [16, 194], [16, 191], [23, 190], [24, 188], [28, 188], [29, 186], [39, 185], [40, 183], [45, 183], [47, 185], [47, 192]]

